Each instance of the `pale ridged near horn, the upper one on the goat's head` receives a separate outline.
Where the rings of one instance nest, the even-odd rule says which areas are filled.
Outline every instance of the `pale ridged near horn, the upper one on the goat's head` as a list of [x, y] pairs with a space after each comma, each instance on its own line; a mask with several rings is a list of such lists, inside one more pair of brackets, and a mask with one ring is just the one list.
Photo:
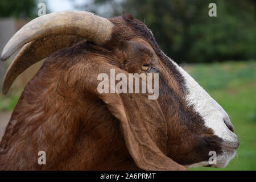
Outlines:
[[85, 11], [59, 11], [43, 15], [16, 32], [3, 48], [1, 59], [8, 59], [24, 44], [49, 34], [82, 36], [96, 44], [103, 44], [110, 38], [112, 27], [108, 19]]

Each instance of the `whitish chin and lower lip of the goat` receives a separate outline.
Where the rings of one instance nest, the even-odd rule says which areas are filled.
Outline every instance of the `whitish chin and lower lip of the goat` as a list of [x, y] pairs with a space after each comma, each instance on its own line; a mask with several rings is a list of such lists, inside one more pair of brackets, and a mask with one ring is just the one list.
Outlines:
[[215, 167], [215, 168], [224, 168], [228, 165], [231, 159], [234, 158], [236, 155], [236, 150], [234, 148], [230, 147], [222, 147], [222, 154], [217, 155], [216, 163], [215, 164], [209, 164], [208, 161], [202, 161], [195, 164], [189, 164], [185, 165], [186, 168], [191, 167]]

